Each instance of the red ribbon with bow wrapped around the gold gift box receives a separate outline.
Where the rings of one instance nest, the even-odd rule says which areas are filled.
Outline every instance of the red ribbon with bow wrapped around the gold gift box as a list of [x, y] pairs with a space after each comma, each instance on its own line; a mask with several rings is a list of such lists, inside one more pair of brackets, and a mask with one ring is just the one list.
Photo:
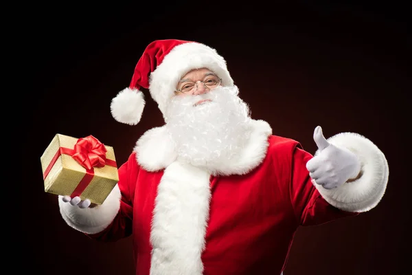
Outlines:
[[70, 197], [80, 196], [84, 189], [89, 186], [91, 180], [94, 177], [93, 167], [104, 167], [106, 165], [117, 167], [117, 164], [114, 160], [106, 159], [106, 152], [107, 149], [104, 144], [102, 144], [102, 142], [100, 142], [97, 138], [93, 137], [93, 135], [89, 135], [88, 137], [81, 137], [78, 139], [73, 149], [65, 147], [59, 148], [59, 150], [52, 158], [49, 166], [47, 166], [43, 175], [43, 179], [45, 179], [47, 175], [49, 175], [50, 170], [52, 170], [52, 167], [61, 154], [70, 155], [71, 157], [73, 157], [73, 159], [76, 160], [76, 162], [86, 168], [86, 174], [80, 180], [78, 186], [70, 195]]

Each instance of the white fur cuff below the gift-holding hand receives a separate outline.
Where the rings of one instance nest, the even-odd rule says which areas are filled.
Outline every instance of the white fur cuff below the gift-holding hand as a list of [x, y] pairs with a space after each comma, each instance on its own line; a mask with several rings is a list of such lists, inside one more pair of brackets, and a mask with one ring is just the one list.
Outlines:
[[121, 194], [119, 186], [115, 186], [106, 200], [95, 208], [79, 208], [62, 201], [58, 196], [60, 214], [66, 223], [80, 232], [95, 234], [102, 232], [115, 219], [120, 209]]

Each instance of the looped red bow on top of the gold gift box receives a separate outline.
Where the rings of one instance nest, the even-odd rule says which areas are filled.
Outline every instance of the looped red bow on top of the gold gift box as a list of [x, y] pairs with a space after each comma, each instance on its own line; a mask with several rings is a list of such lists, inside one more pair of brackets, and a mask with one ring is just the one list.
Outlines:
[[74, 145], [73, 159], [84, 168], [104, 167], [106, 165], [107, 149], [93, 135], [81, 137]]

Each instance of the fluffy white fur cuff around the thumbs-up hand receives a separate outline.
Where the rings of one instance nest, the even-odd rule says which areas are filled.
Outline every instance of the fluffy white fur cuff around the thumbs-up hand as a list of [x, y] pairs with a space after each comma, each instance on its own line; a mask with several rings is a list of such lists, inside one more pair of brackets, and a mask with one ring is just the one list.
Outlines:
[[[363, 135], [339, 133], [328, 139], [330, 144], [349, 149], [361, 161], [361, 177], [335, 189], [314, 184], [325, 201], [350, 212], [366, 212], [382, 199], [387, 188], [389, 166], [380, 149]], [[315, 153], [317, 155], [319, 151]]]

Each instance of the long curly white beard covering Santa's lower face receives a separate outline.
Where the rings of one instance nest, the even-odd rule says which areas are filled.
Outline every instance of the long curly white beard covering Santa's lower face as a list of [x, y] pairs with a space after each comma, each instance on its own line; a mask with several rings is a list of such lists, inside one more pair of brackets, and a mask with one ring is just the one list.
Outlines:
[[[178, 158], [216, 167], [238, 157], [251, 133], [248, 105], [238, 87], [217, 87], [199, 96], [174, 96], [165, 110], [166, 129]], [[199, 100], [211, 100], [194, 106]]]

